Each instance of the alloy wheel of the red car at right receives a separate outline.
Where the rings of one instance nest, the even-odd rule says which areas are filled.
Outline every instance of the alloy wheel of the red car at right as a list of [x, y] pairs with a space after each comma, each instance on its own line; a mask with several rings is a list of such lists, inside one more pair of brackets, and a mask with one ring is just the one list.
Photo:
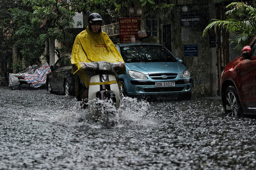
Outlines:
[[225, 112], [231, 116], [241, 116], [242, 106], [238, 97], [238, 93], [234, 86], [229, 86], [225, 93]]

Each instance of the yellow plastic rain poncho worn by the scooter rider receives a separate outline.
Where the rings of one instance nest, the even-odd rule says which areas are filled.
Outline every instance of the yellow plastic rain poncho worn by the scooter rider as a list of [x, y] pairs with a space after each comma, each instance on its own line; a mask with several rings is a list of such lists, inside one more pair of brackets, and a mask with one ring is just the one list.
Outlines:
[[111, 63], [121, 61], [124, 63], [122, 56], [107, 33], [104, 31], [94, 33], [87, 26], [84, 31], [76, 36], [71, 55], [71, 63], [74, 64], [72, 73], [77, 74], [83, 80], [86, 88], [89, 86], [88, 77], [86, 72], [82, 70], [80, 62], [97, 61], [108, 61]]

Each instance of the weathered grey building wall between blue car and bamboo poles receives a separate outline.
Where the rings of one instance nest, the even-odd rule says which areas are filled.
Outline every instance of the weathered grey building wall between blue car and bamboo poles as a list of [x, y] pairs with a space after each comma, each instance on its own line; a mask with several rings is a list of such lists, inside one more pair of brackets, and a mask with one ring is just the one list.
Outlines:
[[[184, 26], [184, 22], [181, 22], [181, 12], [184, 14], [192, 11], [199, 12], [200, 23], [194, 26]], [[169, 13], [159, 14], [160, 43], [164, 44], [164, 25], [170, 24], [171, 51], [176, 57], [184, 60], [184, 64], [191, 73], [193, 96], [216, 96], [217, 94], [216, 47], [210, 47], [209, 35], [202, 38], [204, 28], [212, 18], [215, 18], [215, 14], [215, 5], [210, 2], [176, 5]], [[185, 56], [184, 45], [198, 45], [198, 56]]]

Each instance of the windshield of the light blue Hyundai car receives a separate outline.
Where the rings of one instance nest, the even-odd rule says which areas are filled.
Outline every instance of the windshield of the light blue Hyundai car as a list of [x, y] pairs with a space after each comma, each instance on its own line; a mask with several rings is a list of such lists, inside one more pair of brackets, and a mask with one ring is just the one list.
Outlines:
[[133, 45], [120, 49], [125, 63], [177, 62], [172, 53], [160, 45]]

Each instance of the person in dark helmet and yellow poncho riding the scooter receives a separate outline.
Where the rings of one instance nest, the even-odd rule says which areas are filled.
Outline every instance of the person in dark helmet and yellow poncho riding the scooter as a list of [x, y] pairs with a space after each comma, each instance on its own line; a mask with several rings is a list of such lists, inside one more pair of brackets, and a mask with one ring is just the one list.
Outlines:
[[[118, 49], [116, 49], [107, 33], [101, 30], [102, 22], [100, 14], [90, 14], [88, 26], [76, 36], [74, 41], [71, 63], [72, 74], [75, 80], [76, 98], [79, 101], [88, 98], [88, 87], [90, 77], [92, 76], [82, 69], [80, 62], [122, 62], [120, 64], [124, 66], [124, 60]], [[125, 72], [125, 68], [122, 72]]]

